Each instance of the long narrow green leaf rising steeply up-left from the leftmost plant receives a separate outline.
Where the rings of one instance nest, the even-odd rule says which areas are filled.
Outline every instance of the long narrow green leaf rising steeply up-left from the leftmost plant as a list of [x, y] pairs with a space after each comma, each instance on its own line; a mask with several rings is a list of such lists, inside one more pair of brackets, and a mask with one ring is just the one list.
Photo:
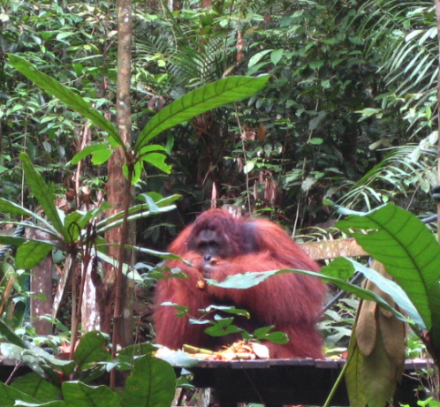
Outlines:
[[52, 227], [58, 233], [62, 234], [65, 240], [68, 241], [68, 236], [64, 234], [63, 223], [54, 203], [55, 196], [52, 193], [52, 190], [44, 182], [43, 177], [37, 171], [35, 171], [35, 168], [27, 154], [20, 153], [19, 158], [23, 163], [23, 170], [29, 188], [37, 198], [38, 203], [43, 207], [47, 219], [51, 222]]

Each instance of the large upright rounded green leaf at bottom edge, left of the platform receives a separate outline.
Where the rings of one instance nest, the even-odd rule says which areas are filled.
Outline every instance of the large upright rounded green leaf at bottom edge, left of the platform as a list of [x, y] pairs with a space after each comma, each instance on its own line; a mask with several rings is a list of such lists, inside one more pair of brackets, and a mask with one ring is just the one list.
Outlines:
[[123, 407], [169, 407], [174, 398], [176, 375], [163, 360], [151, 355], [136, 360], [122, 396]]

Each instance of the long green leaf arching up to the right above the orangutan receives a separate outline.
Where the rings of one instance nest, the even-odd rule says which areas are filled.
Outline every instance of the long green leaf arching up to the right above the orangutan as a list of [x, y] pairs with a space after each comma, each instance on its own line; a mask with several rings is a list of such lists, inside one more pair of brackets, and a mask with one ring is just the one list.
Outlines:
[[225, 103], [253, 95], [268, 79], [269, 76], [231, 76], [189, 92], [153, 116], [139, 135], [134, 149], [140, 151], [148, 141], [170, 127]]

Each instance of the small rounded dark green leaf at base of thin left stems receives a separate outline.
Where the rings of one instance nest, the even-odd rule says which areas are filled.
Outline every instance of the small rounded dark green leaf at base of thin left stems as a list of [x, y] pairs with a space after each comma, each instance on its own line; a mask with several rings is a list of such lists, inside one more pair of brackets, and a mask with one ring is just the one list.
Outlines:
[[75, 361], [78, 369], [84, 369], [85, 365], [107, 361], [111, 354], [107, 349], [108, 336], [102, 332], [93, 331], [86, 333], [79, 341], [75, 351]]

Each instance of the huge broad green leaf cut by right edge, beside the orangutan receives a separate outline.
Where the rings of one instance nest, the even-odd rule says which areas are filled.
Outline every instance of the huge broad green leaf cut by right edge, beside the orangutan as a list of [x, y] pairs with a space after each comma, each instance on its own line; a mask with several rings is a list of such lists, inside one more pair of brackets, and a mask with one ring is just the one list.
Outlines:
[[387, 204], [362, 216], [351, 215], [337, 226], [385, 266], [428, 330], [432, 320], [440, 321], [440, 315], [433, 318], [440, 312], [440, 246], [418, 218]]

